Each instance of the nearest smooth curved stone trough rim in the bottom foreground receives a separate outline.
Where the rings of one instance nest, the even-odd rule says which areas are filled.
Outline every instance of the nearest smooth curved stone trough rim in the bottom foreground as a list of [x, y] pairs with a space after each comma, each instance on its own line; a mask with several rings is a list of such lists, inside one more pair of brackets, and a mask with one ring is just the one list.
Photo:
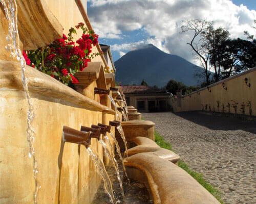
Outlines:
[[212, 196], [187, 172], [151, 152], [124, 159], [130, 179], [144, 183], [155, 204], [217, 204]]

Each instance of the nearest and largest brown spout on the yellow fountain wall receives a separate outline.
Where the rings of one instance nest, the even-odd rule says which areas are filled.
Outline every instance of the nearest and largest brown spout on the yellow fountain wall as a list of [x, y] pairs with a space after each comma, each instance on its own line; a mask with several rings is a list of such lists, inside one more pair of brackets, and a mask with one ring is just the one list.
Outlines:
[[81, 132], [68, 126], [63, 126], [62, 131], [64, 142], [82, 144], [86, 146], [86, 148], [91, 144], [91, 131]]

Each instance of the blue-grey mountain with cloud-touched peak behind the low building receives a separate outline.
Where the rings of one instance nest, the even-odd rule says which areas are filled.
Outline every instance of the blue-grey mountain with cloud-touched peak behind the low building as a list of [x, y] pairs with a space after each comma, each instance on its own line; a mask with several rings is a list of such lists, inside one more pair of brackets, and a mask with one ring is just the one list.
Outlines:
[[148, 85], [158, 87], [165, 86], [171, 79], [188, 86], [197, 85], [200, 82], [195, 72], [202, 71], [181, 57], [162, 52], [153, 44], [138, 46], [114, 64], [116, 80], [122, 85], [139, 85], [143, 79]]

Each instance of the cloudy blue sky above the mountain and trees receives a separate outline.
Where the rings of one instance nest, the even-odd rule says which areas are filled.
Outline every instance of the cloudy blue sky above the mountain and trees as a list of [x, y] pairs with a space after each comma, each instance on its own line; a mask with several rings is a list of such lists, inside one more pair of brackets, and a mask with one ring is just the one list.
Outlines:
[[88, 15], [99, 42], [111, 46], [113, 60], [152, 43], [166, 53], [198, 64], [181, 34], [182, 21], [207, 19], [233, 38], [255, 33], [256, 3], [248, 0], [88, 0]]

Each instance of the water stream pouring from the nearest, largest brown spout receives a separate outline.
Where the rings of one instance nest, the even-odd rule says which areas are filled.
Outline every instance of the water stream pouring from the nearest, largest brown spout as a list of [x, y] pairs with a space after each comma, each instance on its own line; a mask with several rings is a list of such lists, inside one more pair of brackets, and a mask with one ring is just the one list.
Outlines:
[[106, 172], [106, 169], [105, 169], [105, 166], [104, 166], [102, 160], [95, 153], [96, 151], [93, 151], [91, 149], [91, 147], [88, 147], [86, 150], [87, 150], [88, 154], [91, 156], [91, 159], [93, 160], [93, 162], [96, 166], [96, 170], [98, 171], [101, 179], [104, 182], [104, 185], [103, 185], [104, 190], [109, 195], [109, 197], [111, 199], [111, 203], [117, 204], [114, 193], [113, 193], [113, 188], [112, 188], [112, 184], [110, 181], [110, 177], [109, 177], [108, 173]]

